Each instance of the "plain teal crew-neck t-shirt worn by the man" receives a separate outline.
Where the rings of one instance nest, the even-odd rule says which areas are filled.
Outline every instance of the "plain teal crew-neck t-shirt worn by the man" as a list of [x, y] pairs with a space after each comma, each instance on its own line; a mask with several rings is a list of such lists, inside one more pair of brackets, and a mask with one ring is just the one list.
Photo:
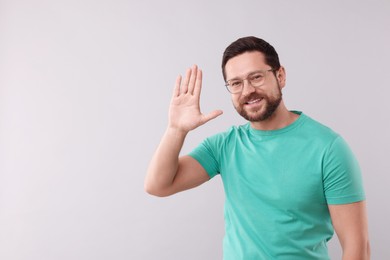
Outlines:
[[205, 139], [189, 155], [225, 200], [225, 260], [329, 259], [328, 204], [365, 199], [358, 163], [345, 141], [301, 112], [271, 131], [250, 124]]

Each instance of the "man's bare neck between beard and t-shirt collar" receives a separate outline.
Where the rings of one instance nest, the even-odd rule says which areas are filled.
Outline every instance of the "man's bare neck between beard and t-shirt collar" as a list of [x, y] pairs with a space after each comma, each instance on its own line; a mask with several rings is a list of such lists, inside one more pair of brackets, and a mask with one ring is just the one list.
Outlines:
[[276, 130], [292, 124], [299, 116], [287, 110], [283, 101], [275, 112], [266, 120], [250, 122], [251, 127], [257, 130]]

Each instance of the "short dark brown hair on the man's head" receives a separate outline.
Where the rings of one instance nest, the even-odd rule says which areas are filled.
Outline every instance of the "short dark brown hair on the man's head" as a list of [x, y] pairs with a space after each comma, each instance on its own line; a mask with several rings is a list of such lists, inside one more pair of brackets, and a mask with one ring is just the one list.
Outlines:
[[263, 39], [254, 36], [243, 37], [235, 42], [232, 42], [224, 51], [222, 57], [222, 74], [226, 80], [225, 66], [226, 63], [233, 57], [245, 52], [258, 51], [264, 54], [265, 63], [272, 67], [273, 70], [280, 68], [279, 56], [275, 48]]

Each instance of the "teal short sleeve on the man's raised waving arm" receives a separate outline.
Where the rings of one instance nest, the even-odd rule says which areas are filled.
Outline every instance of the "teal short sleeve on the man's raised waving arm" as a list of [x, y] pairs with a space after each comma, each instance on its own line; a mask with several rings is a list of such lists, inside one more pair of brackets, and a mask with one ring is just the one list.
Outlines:
[[219, 174], [218, 149], [216, 145], [217, 136], [209, 137], [200, 143], [188, 155], [197, 160], [206, 170], [210, 178]]

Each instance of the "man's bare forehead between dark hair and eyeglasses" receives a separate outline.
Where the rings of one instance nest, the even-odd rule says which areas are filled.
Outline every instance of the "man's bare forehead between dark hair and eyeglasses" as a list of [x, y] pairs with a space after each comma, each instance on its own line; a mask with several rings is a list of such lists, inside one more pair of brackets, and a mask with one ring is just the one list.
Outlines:
[[268, 69], [264, 54], [258, 51], [244, 52], [231, 58], [225, 65], [226, 79], [245, 77], [256, 70]]

